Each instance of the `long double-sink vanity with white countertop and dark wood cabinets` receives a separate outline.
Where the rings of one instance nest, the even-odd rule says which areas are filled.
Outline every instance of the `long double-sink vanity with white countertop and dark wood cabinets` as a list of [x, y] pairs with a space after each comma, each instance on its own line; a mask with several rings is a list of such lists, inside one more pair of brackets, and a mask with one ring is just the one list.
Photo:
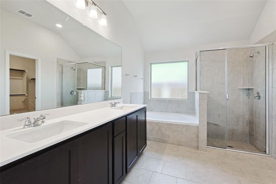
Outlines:
[[[18, 145], [29, 145], [26, 151], [35, 152], [22, 157], [24, 154], [18, 150], [17, 157], [14, 157], [1, 151], [4, 153], [1, 156], [1, 183], [117, 184], [122, 182], [146, 148], [146, 105], [132, 107], [121, 105], [116, 108], [101, 108], [56, 118], [53, 121], [49, 120], [49, 125], [37, 127], [55, 125], [55, 121], [59, 120], [70, 123], [76, 118], [79, 122], [84, 122], [84, 119], [87, 122], [94, 119], [97, 124], [84, 122], [85, 124], [78, 128], [33, 143], [24, 142], [28, 141], [27, 139], [16, 140], [17, 137], [11, 138], [9, 134], [5, 135], [7, 132], [18, 132], [21, 130], [19, 128], [2, 131], [4, 134], [1, 135], [4, 139], [2, 148], [12, 147], [12, 145], [5, 144], [13, 142]], [[36, 129], [36, 127], [31, 129]], [[39, 129], [33, 131], [37, 130]], [[62, 141], [57, 142], [59, 140]], [[48, 144], [43, 145], [47, 141]], [[50, 142], [57, 143], [50, 145]], [[39, 150], [40, 148], [35, 148], [38, 145], [40, 148], [46, 147]], [[16, 155], [14, 152], [10, 153]]]

